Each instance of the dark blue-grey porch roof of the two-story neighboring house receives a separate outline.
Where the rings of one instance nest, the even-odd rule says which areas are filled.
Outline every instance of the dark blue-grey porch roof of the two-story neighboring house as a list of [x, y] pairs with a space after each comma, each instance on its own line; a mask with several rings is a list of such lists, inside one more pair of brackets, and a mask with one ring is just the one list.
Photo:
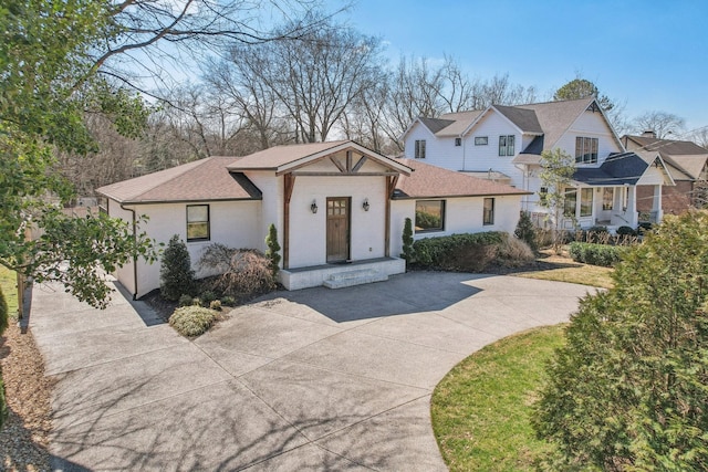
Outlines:
[[611, 154], [600, 167], [580, 167], [573, 180], [589, 186], [636, 185], [649, 165], [634, 153]]

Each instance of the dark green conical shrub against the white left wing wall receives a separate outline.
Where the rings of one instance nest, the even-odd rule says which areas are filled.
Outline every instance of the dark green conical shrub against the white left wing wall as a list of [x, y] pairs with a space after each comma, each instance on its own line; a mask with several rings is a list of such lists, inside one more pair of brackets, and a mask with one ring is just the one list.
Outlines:
[[159, 270], [159, 292], [166, 300], [178, 301], [181, 295], [191, 295], [195, 289], [195, 271], [187, 244], [175, 234], [163, 254]]

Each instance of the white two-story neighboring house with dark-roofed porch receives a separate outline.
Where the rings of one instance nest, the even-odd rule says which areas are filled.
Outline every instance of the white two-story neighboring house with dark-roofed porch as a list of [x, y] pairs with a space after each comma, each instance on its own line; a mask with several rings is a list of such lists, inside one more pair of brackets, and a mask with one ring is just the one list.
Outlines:
[[[410, 159], [510, 183], [531, 193], [522, 202], [541, 222], [541, 153], [561, 148], [575, 158], [565, 191], [564, 228], [636, 228], [638, 185], [650, 186], [660, 218], [662, 186], [673, 185], [662, 157], [626, 151], [595, 98], [492, 105], [483, 111], [416, 119], [403, 136]], [[572, 217], [572, 218], [571, 218]]]

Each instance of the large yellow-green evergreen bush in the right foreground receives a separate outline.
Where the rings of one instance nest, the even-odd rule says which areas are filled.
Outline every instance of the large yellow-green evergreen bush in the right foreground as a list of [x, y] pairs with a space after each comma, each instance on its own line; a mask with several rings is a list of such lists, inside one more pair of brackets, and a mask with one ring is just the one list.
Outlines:
[[667, 216], [587, 296], [534, 428], [553, 470], [708, 468], [708, 212]]

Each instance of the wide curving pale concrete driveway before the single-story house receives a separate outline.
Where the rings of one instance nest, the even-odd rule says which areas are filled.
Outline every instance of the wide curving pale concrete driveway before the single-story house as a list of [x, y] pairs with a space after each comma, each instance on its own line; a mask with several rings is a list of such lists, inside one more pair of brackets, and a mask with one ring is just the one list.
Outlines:
[[587, 290], [414, 272], [273, 293], [189, 342], [139, 302], [98, 312], [35, 286], [30, 326], [58, 380], [53, 465], [445, 470], [436, 384], [496, 339], [566, 321]]

